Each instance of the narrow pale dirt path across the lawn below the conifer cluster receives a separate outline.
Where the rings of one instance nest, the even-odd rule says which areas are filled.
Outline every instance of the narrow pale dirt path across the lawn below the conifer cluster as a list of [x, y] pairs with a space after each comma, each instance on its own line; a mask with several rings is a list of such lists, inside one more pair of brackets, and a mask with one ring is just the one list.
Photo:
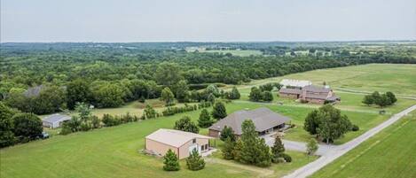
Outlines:
[[256, 176], [258, 178], [269, 177], [272, 174], [274, 174], [274, 171], [272, 171], [270, 169], [260, 168], [260, 167], [255, 167], [255, 166], [241, 165], [241, 164], [234, 163], [232, 161], [223, 160], [223, 159], [216, 159], [216, 158], [211, 157], [211, 158], [206, 158], [205, 161], [207, 161], [209, 163], [221, 164], [221, 165], [225, 165], [225, 166], [232, 166], [232, 167], [244, 169], [244, 170], [247, 170], [247, 171], [250, 171], [250, 172], [254, 172], [254, 173], [258, 174]]

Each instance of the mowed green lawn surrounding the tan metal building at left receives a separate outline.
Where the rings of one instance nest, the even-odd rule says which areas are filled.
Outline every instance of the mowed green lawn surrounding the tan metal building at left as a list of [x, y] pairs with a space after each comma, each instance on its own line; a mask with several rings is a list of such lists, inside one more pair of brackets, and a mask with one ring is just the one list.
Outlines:
[[[255, 108], [259, 104], [229, 104], [233, 112]], [[187, 112], [197, 120], [200, 111]], [[296, 113], [295, 111], [293, 113]], [[289, 152], [294, 158], [290, 164], [273, 165], [269, 168], [218, 164], [208, 162], [205, 169], [197, 172], [185, 168], [165, 172], [162, 159], [146, 156], [138, 151], [145, 147], [145, 135], [158, 128], [173, 128], [174, 122], [184, 114], [143, 120], [114, 128], [101, 128], [71, 135], [56, 135], [50, 139], [25, 143], [0, 150], [1, 177], [255, 177], [271, 172], [276, 177], [287, 174], [307, 164], [308, 158], [299, 152]], [[207, 134], [202, 129], [201, 134]], [[227, 162], [228, 163], [228, 162]], [[229, 162], [232, 163], [232, 162]], [[268, 175], [269, 176], [269, 175]]]

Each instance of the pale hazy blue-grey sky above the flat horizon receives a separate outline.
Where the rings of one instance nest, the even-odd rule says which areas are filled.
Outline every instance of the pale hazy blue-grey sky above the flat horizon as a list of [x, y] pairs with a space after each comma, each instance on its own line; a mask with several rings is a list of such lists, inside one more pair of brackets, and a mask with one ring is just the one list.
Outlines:
[[0, 0], [0, 42], [416, 40], [415, 0]]

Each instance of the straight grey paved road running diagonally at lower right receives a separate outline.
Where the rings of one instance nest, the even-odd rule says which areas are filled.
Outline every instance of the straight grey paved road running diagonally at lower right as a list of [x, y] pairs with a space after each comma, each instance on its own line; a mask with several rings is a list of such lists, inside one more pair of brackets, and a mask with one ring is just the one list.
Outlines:
[[302, 166], [301, 168], [295, 170], [291, 174], [287, 174], [286, 176], [284, 176], [284, 178], [304, 178], [311, 174], [314, 174], [322, 167], [334, 161], [334, 159], [338, 159], [343, 154], [354, 149], [360, 143], [363, 143], [368, 138], [372, 137], [373, 135], [376, 135], [382, 129], [389, 127], [391, 124], [395, 123], [397, 120], [400, 120], [401, 118], [403, 118], [403, 116], [407, 115], [409, 112], [412, 112], [413, 110], [416, 110], [416, 105], [413, 105], [412, 107], [409, 107], [404, 111], [391, 116], [389, 120], [382, 122], [377, 127], [368, 130], [363, 135], [359, 135], [357, 138], [349, 141], [348, 143], [335, 146], [333, 149], [326, 151], [326, 154], [323, 154], [319, 159], [311, 162], [306, 166]]

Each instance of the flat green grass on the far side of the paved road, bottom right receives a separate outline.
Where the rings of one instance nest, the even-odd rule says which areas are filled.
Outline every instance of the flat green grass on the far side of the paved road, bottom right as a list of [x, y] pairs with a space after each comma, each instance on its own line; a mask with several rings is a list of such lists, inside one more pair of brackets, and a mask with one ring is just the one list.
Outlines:
[[416, 112], [412, 112], [311, 177], [416, 177], [415, 135]]

